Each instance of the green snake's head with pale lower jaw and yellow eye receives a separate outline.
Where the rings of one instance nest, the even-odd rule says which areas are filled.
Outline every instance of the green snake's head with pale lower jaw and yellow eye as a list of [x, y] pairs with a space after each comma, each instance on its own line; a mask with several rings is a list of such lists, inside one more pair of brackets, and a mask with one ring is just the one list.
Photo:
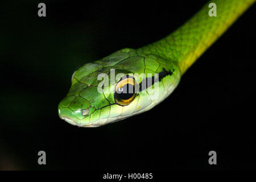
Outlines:
[[71, 88], [58, 106], [59, 117], [81, 127], [119, 121], [159, 104], [179, 80], [180, 69], [173, 61], [125, 48], [73, 73]]

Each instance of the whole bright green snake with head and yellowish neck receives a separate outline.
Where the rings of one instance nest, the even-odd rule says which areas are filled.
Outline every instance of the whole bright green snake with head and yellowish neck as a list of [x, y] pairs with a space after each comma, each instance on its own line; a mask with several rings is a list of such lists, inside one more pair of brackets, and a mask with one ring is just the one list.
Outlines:
[[97, 127], [152, 109], [254, 2], [210, 1], [166, 38], [82, 65], [73, 73], [71, 88], [58, 106], [59, 117], [72, 125]]

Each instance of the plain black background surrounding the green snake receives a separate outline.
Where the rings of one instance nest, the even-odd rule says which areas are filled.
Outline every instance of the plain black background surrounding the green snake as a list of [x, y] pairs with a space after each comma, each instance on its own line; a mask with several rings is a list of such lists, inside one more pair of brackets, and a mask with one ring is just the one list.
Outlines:
[[39, 1], [1, 2], [1, 169], [256, 169], [255, 7], [162, 104], [89, 129], [57, 115], [73, 70], [167, 36], [207, 1], [43, 2], [42, 18]]

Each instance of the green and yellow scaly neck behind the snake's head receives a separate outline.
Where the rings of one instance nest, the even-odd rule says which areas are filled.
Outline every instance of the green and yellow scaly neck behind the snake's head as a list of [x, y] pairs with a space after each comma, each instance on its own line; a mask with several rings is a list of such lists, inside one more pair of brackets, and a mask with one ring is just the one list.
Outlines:
[[183, 75], [254, 2], [255, 0], [210, 1], [172, 34], [137, 50], [176, 62]]

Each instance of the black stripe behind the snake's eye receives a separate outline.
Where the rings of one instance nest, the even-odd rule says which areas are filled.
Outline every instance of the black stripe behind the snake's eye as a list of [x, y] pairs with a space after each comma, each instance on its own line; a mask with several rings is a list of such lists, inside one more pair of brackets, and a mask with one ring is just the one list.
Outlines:
[[171, 71], [166, 71], [166, 69], [163, 68], [162, 72], [158, 73], [158, 80], [152, 76], [152, 77], [147, 77], [144, 78], [141, 83], [139, 83], [139, 92], [146, 90], [148, 87], [150, 87], [151, 85], [154, 85], [155, 82], [157, 81], [161, 81], [164, 77], [166, 77], [167, 75], [172, 75], [173, 72]]

